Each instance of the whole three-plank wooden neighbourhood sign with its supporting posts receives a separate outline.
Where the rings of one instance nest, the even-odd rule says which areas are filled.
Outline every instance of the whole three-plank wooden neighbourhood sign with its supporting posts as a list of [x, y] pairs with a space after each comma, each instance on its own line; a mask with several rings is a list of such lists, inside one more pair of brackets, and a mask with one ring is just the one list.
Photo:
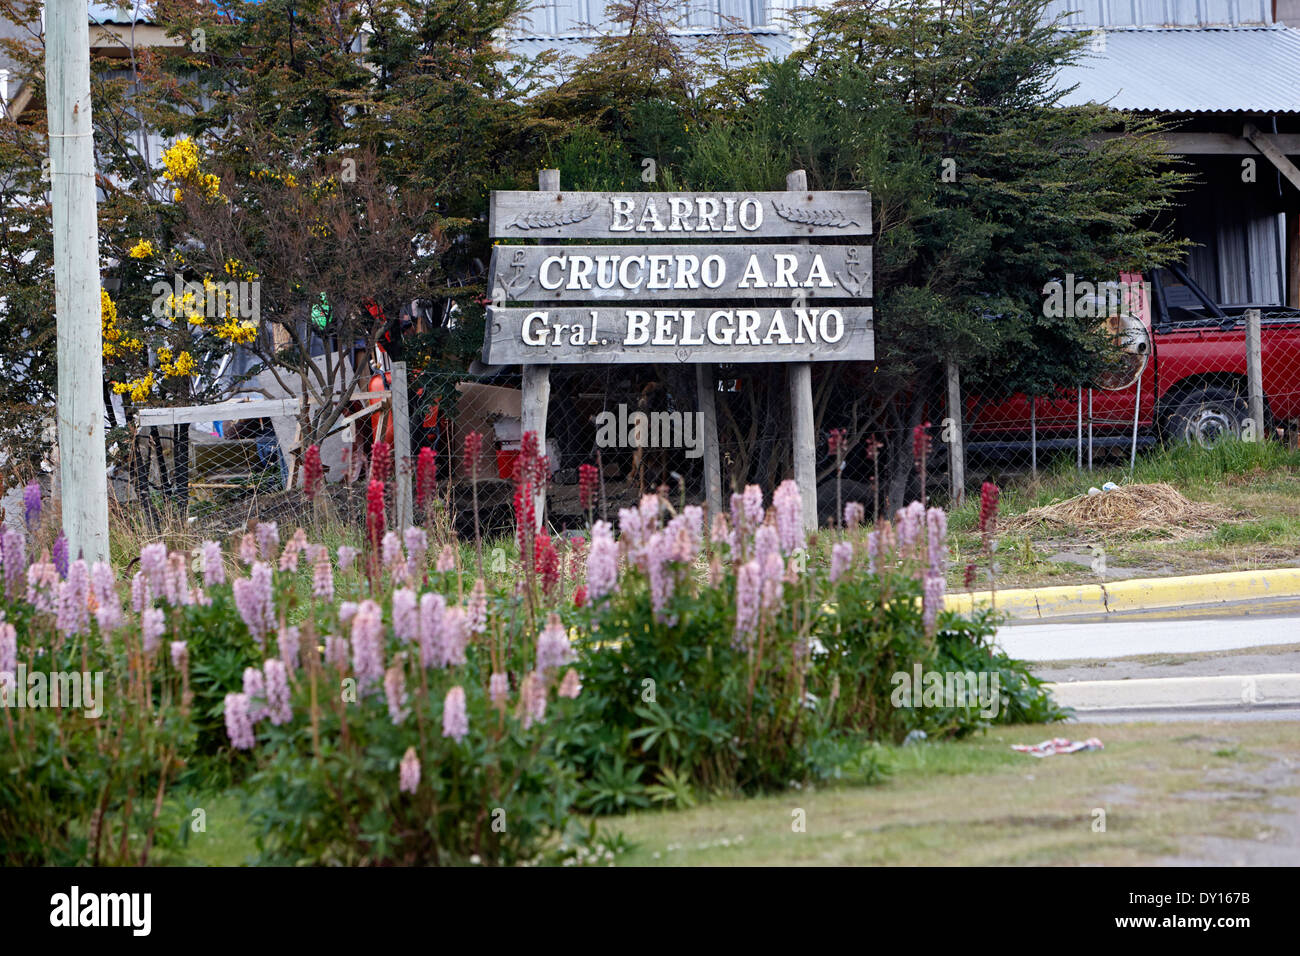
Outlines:
[[[810, 193], [802, 170], [784, 193], [562, 193], [555, 169], [538, 185], [493, 193], [489, 225], [493, 238], [528, 242], [493, 250], [482, 351], [488, 364], [523, 367], [524, 431], [545, 450], [552, 364], [694, 364], [716, 514], [711, 365], [789, 363], [794, 477], [815, 528], [811, 363], [875, 356], [871, 246], [857, 238], [871, 234], [871, 195]], [[538, 527], [543, 507], [540, 497]]]

